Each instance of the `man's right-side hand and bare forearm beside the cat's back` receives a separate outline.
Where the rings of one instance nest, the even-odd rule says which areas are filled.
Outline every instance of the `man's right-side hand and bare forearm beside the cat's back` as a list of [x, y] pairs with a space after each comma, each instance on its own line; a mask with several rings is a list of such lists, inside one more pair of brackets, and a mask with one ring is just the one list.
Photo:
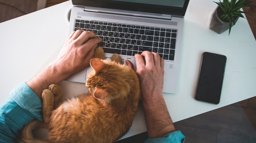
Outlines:
[[[164, 59], [157, 53], [144, 51], [135, 55], [137, 74], [140, 78], [142, 104], [150, 138], [163, 137], [175, 131], [162, 94], [164, 84]], [[133, 68], [130, 61], [127, 65]]]

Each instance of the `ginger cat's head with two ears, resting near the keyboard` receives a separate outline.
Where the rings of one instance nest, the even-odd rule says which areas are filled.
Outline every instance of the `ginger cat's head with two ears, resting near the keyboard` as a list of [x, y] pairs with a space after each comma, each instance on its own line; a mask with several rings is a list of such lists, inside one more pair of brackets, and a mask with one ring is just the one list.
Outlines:
[[134, 81], [138, 81], [136, 72], [126, 65], [100, 59], [92, 59], [90, 65], [93, 70], [88, 75], [86, 86], [99, 100], [110, 102], [126, 98]]

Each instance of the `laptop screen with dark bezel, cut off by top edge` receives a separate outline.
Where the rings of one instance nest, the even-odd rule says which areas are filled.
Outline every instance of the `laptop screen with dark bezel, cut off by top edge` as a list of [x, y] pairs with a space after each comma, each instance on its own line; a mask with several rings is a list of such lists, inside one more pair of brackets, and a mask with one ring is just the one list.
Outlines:
[[73, 5], [184, 16], [189, 0], [72, 0]]

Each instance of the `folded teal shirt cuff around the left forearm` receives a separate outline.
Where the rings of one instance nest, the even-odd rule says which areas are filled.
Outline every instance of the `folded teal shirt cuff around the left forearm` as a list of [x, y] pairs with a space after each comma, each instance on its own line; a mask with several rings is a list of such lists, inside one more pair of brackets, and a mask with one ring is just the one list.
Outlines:
[[11, 98], [24, 110], [42, 121], [42, 101], [36, 93], [26, 84], [20, 84], [10, 92]]

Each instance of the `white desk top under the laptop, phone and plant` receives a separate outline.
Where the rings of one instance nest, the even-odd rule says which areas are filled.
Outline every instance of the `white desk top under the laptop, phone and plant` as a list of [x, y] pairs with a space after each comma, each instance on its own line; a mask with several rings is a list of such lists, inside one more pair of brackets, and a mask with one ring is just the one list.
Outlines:
[[[9, 92], [54, 61], [66, 41], [66, 11], [71, 1], [0, 23], [0, 105]], [[184, 39], [178, 93], [164, 98], [174, 122], [256, 96], [256, 41], [246, 19], [240, 18], [230, 36], [208, 29], [212, 0], [190, 0], [184, 22]], [[226, 55], [227, 65], [220, 104], [194, 99], [201, 55], [204, 51]], [[62, 82], [64, 96], [86, 92], [84, 84]], [[129, 137], [146, 131], [140, 107]]]

